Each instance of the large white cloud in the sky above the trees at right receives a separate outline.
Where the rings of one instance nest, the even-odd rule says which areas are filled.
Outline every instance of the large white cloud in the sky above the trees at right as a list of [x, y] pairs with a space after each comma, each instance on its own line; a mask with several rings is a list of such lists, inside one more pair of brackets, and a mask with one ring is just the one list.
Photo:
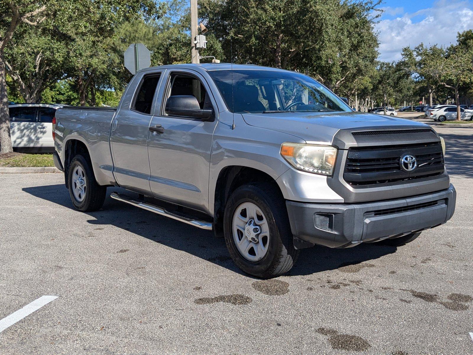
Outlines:
[[[397, 10], [390, 8], [393, 13]], [[387, 12], [386, 12], [387, 13]], [[473, 10], [468, 1], [441, 0], [429, 9], [404, 13], [402, 17], [381, 20], [379, 31], [379, 60], [401, 59], [403, 47], [420, 44], [449, 45], [456, 42], [457, 32], [473, 28]]]

